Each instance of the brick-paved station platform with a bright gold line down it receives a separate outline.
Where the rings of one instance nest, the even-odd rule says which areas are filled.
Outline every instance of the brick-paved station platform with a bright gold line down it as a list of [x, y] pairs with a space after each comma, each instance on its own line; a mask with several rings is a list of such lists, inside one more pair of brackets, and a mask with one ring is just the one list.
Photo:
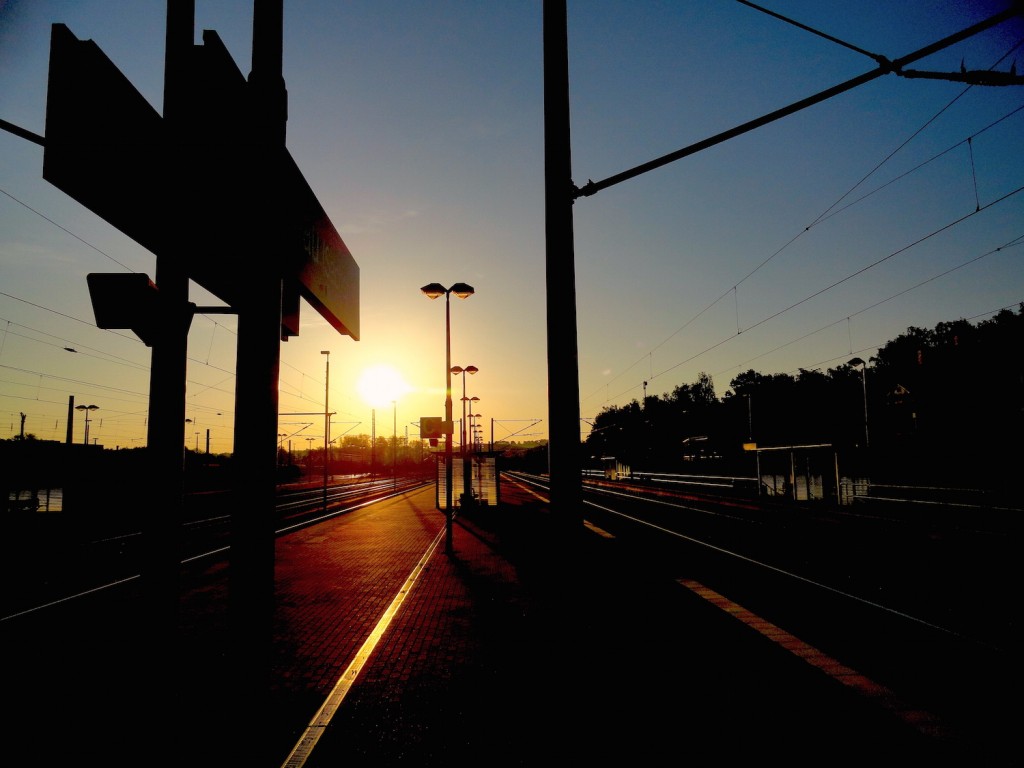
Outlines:
[[170, 646], [123, 599], [27, 624], [4, 648], [3, 762], [994, 764], [687, 574], [565, 531], [544, 496], [503, 481], [451, 554], [430, 486], [280, 538], [255, 699], [224, 674], [224, 566], [184, 575]]

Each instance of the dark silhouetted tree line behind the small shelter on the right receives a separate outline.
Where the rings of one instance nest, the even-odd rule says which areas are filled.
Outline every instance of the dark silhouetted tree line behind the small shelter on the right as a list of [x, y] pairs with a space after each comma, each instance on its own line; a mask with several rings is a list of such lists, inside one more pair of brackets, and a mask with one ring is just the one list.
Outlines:
[[910, 327], [869, 359], [823, 372], [744, 371], [721, 397], [701, 373], [602, 410], [584, 457], [589, 467], [615, 457], [634, 471], [754, 475], [755, 445], [830, 446], [845, 472], [876, 482], [994, 488], [1021, 469], [1022, 416], [1024, 303], [977, 325]]

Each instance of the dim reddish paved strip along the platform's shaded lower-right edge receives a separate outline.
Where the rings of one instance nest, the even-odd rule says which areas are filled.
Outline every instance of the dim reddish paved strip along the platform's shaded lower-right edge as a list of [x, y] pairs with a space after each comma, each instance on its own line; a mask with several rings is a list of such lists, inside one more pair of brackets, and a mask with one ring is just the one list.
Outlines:
[[748, 627], [756, 630], [764, 637], [785, 648], [807, 664], [816, 667], [834, 680], [852, 688], [860, 695], [870, 699], [878, 706], [888, 710], [897, 718], [916, 728], [922, 733], [929, 736], [943, 736], [947, 734], [947, 729], [939, 722], [938, 718], [928, 712], [910, 707], [902, 701], [893, 691], [884, 685], [880, 685], [868, 677], [865, 677], [856, 670], [841, 664], [831, 656], [823, 653], [812, 645], [808, 645], [799, 637], [791, 635], [788, 632], [765, 621], [756, 613], [748, 610], [741, 605], [737, 605], [727, 597], [723, 597], [714, 590], [705, 587], [698, 582], [689, 579], [677, 579], [680, 585], [690, 590], [694, 594], [702, 597], [713, 605], [718, 606], [726, 613], [738, 618]]

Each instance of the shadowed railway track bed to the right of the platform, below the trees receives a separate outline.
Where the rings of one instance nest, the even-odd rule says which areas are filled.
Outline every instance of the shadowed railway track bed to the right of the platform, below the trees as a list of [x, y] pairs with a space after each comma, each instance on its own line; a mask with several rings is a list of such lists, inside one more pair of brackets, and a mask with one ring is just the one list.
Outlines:
[[[506, 482], [548, 487], [538, 475]], [[1019, 682], [1016, 523], [621, 481], [585, 482], [583, 503], [639, 566], [725, 596], [909, 712], [979, 741], [1015, 727], [1000, 691]]]

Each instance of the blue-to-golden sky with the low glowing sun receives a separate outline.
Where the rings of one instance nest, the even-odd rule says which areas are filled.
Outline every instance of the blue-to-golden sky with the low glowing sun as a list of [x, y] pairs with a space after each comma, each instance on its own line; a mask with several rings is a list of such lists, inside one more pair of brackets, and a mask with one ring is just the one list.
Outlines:
[[[905, 56], [1007, 5], [569, 0], [572, 181], [716, 136], [874, 70], [868, 53]], [[540, 0], [285, 3], [287, 145], [360, 281], [359, 340], [303, 304], [282, 344], [286, 447], [323, 444], [309, 414], [324, 411], [328, 360], [332, 437], [416, 439], [421, 417], [443, 415], [444, 301], [421, 293], [429, 283], [475, 289], [451, 299], [452, 365], [478, 369], [453, 377], [456, 420], [465, 384], [485, 441], [547, 437], [542, 12]], [[44, 133], [55, 23], [161, 112], [166, 16], [151, 0], [0, 0], [0, 120]], [[249, 73], [251, 0], [197, 0], [197, 43], [203, 30]], [[909, 68], [1024, 71], [1022, 41], [1017, 16]], [[579, 198], [581, 436], [602, 409], [700, 374], [721, 396], [748, 370], [825, 371], [908, 328], [1016, 311], [1022, 106], [1020, 85], [884, 75]], [[144, 444], [151, 350], [95, 327], [86, 274], [154, 278], [155, 257], [45, 181], [42, 160], [0, 130], [0, 438], [25, 414], [26, 432], [65, 439], [73, 396], [98, 407], [90, 441]], [[190, 300], [222, 303], [199, 286]], [[205, 451], [209, 431], [210, 451], [231, 450], [234, 341], [233, 315], [191, 324], [188, 447]], [[76, 442], [83, 428], [77, 414]]]

